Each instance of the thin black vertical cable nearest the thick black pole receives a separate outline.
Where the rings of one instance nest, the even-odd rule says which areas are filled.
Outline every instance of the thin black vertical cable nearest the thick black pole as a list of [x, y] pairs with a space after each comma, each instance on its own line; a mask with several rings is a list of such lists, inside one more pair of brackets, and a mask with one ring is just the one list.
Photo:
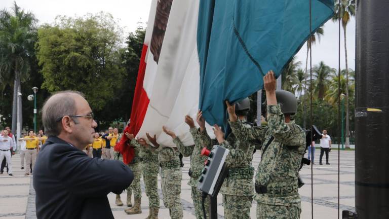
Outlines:
[[341, 2], [339, 0], [339, 7], [338, 7], [338, 16], [339, 16], [339, 39], [338, 39], [338, 219], [339, 219], [339, 213], [340, 213], [340, 22], [341, 22], [341, 16], [340, 16], [340, 9]]

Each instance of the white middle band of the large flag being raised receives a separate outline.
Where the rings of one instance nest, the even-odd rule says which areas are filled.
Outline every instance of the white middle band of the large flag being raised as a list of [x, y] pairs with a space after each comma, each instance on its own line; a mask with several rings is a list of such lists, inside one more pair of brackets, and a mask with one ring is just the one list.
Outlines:
[[173, 1], [159, 63], [151, 52], [147, 57], [143, 88], [150, 103], [138, 136], [155, 134], [166, 147], [175, 144], [162, 132], [164, 125], [176, 132], [185, 145], [193, 144], [184, 117], [189, 114], [196, 120], [199, 104], [198, 12], [199, 0]]

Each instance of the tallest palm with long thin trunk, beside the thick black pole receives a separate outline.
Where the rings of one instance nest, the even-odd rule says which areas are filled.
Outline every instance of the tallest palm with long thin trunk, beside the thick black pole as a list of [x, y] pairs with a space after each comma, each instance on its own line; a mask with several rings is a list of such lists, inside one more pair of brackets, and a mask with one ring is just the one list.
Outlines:
[[[348, 87], [348, 64], [347, 64], [347, 46], [346, 46], [346, 26], [350, 21], [350, 18], [355, 16], [355, 0], [341, 0], [340, 3], [335, 3], [335, 15], [332, 17], [333, 21], [341, 19], [343, 27], [343, 38], [344, 38], [344, 57], [346, 64], [346, 86]], [[349, 120], [348, 120], [348, 88], [346, 89], [346, 148], [349, 148]]]

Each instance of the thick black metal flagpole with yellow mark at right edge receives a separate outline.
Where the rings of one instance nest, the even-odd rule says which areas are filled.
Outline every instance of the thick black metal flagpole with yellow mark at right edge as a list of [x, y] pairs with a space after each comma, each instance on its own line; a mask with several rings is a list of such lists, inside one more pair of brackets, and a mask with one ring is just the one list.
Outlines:
[[355, 207], [389, 218], [389, 1], [357, 1]]

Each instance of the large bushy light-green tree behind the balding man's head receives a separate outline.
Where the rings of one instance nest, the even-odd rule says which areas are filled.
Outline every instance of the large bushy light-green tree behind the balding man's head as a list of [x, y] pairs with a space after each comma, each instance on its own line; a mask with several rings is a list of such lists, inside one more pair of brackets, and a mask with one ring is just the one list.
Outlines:
[[[118, 98], [114, 91], [122, 89], [125, 72], [121, 33], [113, 17], [103, 12], [76, 18], [59, 16], [54, 25], [42, 26], [36, 44], [42, 87], [49, 92], [81, 91], [94, 111], [109, 106], [107, 102]], [[104, 116], [96, 118], [103, 120]]]

